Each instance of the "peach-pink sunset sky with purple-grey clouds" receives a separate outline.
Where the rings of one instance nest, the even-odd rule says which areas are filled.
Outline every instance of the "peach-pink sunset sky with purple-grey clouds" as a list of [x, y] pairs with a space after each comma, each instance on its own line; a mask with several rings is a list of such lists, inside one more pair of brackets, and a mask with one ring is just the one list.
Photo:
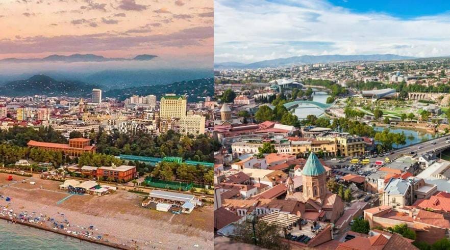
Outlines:
[[0, 59], [146, 53], [206, 65], [213, 0], [2, 0], [0, 31]]

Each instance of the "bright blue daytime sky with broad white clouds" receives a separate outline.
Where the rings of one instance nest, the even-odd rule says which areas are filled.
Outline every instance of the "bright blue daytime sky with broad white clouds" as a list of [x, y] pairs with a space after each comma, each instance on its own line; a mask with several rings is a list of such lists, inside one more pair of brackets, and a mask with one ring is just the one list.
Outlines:
[[450, 1], [215, 0], [214, 59], [450, 55]]

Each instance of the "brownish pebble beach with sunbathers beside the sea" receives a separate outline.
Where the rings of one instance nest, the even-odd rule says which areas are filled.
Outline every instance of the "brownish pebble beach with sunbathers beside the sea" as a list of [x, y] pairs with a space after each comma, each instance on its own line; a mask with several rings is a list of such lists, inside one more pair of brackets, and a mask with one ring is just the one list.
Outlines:
[[[140, 207], [144, 196], [118, 190], [104, 197], [73, 195], [58, 187], [61, 182], [36, 177], [13, 176], [0, 173], [1, 206], [14, 213], [27, 211], [33, 216], [68, 221], [65, 231], [92, 232], [92, 237], [126, 244], [139, 249], [212, 249], [212, 206], [196, 208], [192, 214], [171, 214]], [[26, 179], [26, 183], [21, 180]], [[35, 181], [35, 185], [29, 182]], [[8, 186], [9, 185], [9, 186]], [[41, 188], [42, 187], [42, 188]], [[6, 197], [11, 198], [7, 202]], [[53, 223], [53, 222], [52, 222]], [[94, 226], [89, 230], [89, 226]], [[136, 241], [136, 243], [134, 243]]]

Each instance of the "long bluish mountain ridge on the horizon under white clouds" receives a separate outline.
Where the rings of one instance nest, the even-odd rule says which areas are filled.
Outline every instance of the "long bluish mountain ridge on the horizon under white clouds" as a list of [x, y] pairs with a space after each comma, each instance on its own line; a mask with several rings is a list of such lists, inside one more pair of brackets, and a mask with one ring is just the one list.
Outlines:
[[273, 60], [265, 60], [250, 64], [242, 63], [218, 63], [214, 64], [215, 69], [230, 69], [230, 68], [267, 68], [267, 67], [284, 67], [300, 64], [315, 64], [315, 63], [333, 63], [333, 62], [350, 62], [350, 61], [395, 61], [415, 59], [413, 57], [404, 57], [396, 54], [358, 54], [358, 55], [302, 55], [300, 57], [280, 58]]

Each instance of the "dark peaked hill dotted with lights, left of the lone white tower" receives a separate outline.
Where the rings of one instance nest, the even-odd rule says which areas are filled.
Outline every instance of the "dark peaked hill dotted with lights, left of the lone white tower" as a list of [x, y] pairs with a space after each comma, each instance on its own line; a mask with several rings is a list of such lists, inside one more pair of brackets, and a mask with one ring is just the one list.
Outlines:
[[26, 80], [7, 82], [0, 86], [0, 95], [5, 96], [80, 96], [90, 95], [92, 89], [98, 86], [82, 81], [58, 81], [46, 75], [34, 75]]

